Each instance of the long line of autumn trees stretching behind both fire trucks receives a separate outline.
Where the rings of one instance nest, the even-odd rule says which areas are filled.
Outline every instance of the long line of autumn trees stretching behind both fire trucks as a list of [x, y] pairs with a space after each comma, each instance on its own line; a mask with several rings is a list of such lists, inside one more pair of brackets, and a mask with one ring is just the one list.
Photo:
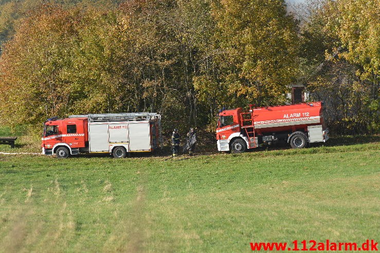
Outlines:
[[167, 133], [213, 131], [220, 108], [284, 104], [301, 82], [339, 133], [375, 133], [378, 2], [310, 1], [299, 13], [283, 0], [41, 4], [7, 28], [0, 121], [150, 111]]

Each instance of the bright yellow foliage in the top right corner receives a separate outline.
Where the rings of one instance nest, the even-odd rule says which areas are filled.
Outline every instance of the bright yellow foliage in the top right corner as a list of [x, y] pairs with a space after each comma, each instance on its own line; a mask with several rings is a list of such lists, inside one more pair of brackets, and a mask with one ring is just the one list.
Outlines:
[[[360, 65], [357, 75], [362, 80], [373, 80], [380, 74], [380, 1], [329, 1], [326, 28], [339, 38], [347, 49], [340, 55]], [[376, 77], [375, 77], [376, 78]]]

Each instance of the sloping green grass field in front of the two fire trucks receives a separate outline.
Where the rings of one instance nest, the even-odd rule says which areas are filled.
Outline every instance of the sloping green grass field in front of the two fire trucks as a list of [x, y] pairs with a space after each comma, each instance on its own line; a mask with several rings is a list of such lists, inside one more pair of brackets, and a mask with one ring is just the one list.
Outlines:
[[380, 144], [162, 158], [0, 155], [0, 251], [379, 241]]

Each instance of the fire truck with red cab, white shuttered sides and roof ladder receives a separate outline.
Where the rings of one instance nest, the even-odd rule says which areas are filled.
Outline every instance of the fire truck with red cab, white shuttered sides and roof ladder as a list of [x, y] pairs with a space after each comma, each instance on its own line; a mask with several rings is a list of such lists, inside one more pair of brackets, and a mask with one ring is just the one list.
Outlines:
[[42, 152], [58, 158], [81, 153], [151, 152], [160, 147], [161, 116], [157, 113], [106, 113], [57, 117], [44, 124]]

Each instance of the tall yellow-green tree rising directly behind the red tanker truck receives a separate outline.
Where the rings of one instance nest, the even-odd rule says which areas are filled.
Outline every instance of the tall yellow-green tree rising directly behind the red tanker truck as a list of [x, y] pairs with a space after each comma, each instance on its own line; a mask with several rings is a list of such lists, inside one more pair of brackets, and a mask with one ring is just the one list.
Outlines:
[[298, 71], [297, 27], [284, 1], [226, 0], [214, 16], [229, 95], [242, 105], [284, 103]]

